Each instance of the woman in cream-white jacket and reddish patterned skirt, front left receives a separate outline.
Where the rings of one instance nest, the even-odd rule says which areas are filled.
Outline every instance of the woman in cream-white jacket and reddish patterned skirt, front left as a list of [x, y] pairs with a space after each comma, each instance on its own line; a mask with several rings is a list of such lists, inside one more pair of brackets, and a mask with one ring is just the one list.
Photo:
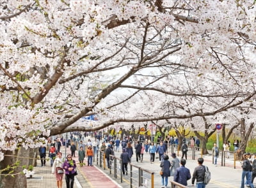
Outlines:
[[63, 164], [62, 153], [58, 152], [57, 157], [52, 164], [52, 174], [55, 174], [58, 188], [62, 188], [62, 180], [63, 180], [63, 174], [64, 174], [64, 171], [62, 169], [62, 164]]

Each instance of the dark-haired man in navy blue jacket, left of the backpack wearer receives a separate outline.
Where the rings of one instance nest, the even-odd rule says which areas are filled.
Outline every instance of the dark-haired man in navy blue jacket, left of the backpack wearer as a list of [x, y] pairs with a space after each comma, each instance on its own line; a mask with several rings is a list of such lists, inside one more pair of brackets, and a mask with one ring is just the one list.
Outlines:
[[189, 169], [185, 167], [185, 164], [186, 159], [180, 159], [180, 167], [177, 168], [173, 180], [174, 182], [187, 186], [187, 181], [191, 178], [191, 174]]

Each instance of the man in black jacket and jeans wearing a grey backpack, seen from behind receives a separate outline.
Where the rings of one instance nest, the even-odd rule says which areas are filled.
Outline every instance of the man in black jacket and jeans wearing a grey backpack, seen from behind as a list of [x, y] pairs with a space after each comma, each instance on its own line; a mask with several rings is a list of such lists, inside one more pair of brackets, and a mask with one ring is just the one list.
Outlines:
[[205, 188], [205, 183], [204, 183], [205, 166], [203, 165], [204, 158], [201, 158], [201, 157], [198, 158], [197, 162], [198, 162], [198, 166], [196, 166], [192, 176], [192, 186], [194, 186], [195, 180], [196, 180], [196, 188]]

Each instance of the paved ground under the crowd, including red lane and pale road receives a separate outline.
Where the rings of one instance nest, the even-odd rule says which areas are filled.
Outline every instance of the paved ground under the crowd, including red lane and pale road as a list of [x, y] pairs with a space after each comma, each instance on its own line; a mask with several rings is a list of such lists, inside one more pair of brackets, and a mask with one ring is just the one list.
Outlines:
[[[88, 138], [87, 138], [88, 139]], [[87, 140], [86, 139], [86, 140]], [[86, 141], [84, 141], [85, 143]], [[64, 148], [61, 148], [61, 150], [64, 150]], [[67, 148], [67, 154], [70, 153], [69, 148]], [[64, 152], [63, 152], [64, 154]], [[115, 155], [117, 157], [120, 156], [120, 152], [115, 152]], [[170, 154], [169, 154], [170, 155]], [[76, 154], [77, 156], [77, 154]], [[136, 166], [140, 166], [140, 168], [144, 168], [150, 171], [154, 172], [154, 187], [161, 187], [161, 177], [159, 175], [159, 159], [156, 159], [154, 164], [150, 164], [149, 161], [149, 154], [145, 153], [143, 157], [143, 163], [136, 163], [136, 159], [133, 156], [132, 157], [132, 164], [135, 164]], [[171, 157], [170, 157], [171, 158]], [[198, 156], [196, 156], [196, 159]], [[77, 157], [74, 158], [77, 160]], [[180, 159], [180, 155], [179, 155]], [[205, 162], [204, 164], [209, 167], [209, 170], [211, 171], [211, 182], [207, 185], [207, 188], [216, 188], [216, 187], [225, 187], [225, 188], [238, 188], [241, 184], [241, 174], [242, 170], [239, 166], [239, 161], [237, 161], [237, 168], [234, 169], [232, 166], [221, 166], [221, 159], [218, 159], [218, 166], [214, 166], [212, 164], [212, 156], [211, 155], [204, 155]], [[228, 161], [227, 161], [228, 162]], [[87, 160], [85, 162], [87, 164]], [[233, 162], [234, 163], [234, 162]], [[38, 164], [40, 164], [40, 161], [38, 161]], [[230, 164], [232, 164], [232, 161], [230, 160]], [[193, 173], [193, 170], [197, 166], [196, 160], [188, 159], [186, 167], [189, 168], [191, 171], [191, 175]], [[119, 167], [118, 167], [119, 168]], [[130, 167], [129, 167], [130, 168]], [[128, 171], [129, 171], [128, 168]], [[54, 188], [56, 186], [56, 180], [55, 176], [51, 174], [51, 166], [50, 161], [47, 161], [47, 166], [41, 167], [36, 166], [34, 168], [35, 174], [33, 175], [33, 178], [28, 179], [28, 188]], [[118, 187], [124, 187], [128, 188], [131, 187], [130, 185], [130, 175], [125, 175], [123, 177], [123, 182], [120, 182], [120, 169], [118, 171], [118, 175], [115, 178], [113, 176], [113, 171], [110, 174], [109, 170], [103, 170], [103, 168], [100, 168], [99, 166], [94, 164], [94, 166], [83, 166], [80, 168], [77, 167], [78, 175], [76, 176], [76, 182], [75, 182], [75, 188], [118, 188]], [[173, 179], [173, 177], [170, 177], [170, 180]], [[188, 180], [188, 187], [191, 186], [191, 180]], [[63, 188], [66, 188], [65, 185], [65, 177], [63, 179]], [[168, 184], [168, 188], [170, 188], [170, 183]]]

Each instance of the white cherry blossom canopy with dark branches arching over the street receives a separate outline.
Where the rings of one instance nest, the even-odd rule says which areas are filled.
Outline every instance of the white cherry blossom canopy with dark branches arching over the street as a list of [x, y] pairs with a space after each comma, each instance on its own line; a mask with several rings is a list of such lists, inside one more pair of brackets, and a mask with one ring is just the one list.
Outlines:
[[0, 161], [51, 135], [255, 96], [253, 0], [3, 0], [0, 24]]

